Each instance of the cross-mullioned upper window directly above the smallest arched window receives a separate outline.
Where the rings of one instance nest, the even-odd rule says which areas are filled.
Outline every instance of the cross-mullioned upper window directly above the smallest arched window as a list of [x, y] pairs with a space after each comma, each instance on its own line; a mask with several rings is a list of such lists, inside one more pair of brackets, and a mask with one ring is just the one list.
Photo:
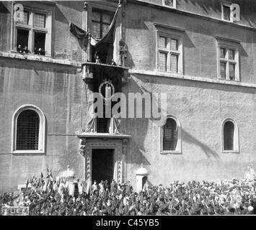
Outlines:
[[219, 78], [239, 80], [238, 49], [219, 46]]

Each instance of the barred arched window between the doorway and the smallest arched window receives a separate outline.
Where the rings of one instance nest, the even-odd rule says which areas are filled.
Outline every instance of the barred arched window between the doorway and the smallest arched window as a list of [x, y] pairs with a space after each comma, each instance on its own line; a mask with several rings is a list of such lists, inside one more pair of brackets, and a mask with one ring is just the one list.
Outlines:
[[162, 152], [181, 152], [180, 122], [172, 116], [162, 126]]

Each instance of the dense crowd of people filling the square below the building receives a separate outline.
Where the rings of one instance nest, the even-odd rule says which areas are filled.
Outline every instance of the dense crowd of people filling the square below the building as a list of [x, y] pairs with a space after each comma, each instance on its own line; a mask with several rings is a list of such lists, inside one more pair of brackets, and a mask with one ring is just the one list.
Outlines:
[[51, 172], [27, 180], [24, 190], [4, 193], [1, 206], [29, 206], [30, 215], [142, 216], [251, 215], [256, 212], [255, 181], [174, 181], [153, 186], [147, 181], [136, 193], [129, 181], [91, 183], [53, 177]]

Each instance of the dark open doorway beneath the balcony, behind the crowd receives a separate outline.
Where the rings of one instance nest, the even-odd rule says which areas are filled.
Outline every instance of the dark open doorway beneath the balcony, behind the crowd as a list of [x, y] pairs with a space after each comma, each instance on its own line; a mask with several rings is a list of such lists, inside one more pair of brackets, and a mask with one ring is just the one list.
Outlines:
[[92, 183], [107, 180], [111, 183], [114, 177], [114, 149], [92, 149]]

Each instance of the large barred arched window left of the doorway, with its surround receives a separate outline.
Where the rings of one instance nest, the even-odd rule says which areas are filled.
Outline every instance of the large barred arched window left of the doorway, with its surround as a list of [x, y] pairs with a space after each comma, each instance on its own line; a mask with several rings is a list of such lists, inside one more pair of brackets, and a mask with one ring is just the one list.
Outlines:
[[14, 112], [12, 119], [12, 152], [45, 152], [45, 116], [36, 106], [25, 105]]

